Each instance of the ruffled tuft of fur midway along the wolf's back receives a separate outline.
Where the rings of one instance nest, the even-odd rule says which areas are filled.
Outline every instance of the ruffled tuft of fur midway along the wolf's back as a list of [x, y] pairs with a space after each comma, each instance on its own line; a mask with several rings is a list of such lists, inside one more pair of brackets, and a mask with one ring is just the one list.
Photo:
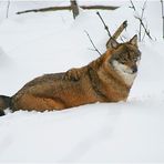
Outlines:
[[80, 80], [80, 76], [81, 76], [81, 71], [79, 69], [71, 69], [65, 72], [65, 74], [63, 75], [63, 79], [78, 81]]

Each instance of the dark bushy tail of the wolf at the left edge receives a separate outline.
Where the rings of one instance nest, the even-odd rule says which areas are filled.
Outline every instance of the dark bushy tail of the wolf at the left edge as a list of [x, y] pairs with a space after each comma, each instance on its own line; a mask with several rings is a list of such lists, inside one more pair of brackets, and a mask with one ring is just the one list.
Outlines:
[[4, 115], [4, 110], [10, 107], [11, 98], [6, 95], [0, 95], [0, 116]]

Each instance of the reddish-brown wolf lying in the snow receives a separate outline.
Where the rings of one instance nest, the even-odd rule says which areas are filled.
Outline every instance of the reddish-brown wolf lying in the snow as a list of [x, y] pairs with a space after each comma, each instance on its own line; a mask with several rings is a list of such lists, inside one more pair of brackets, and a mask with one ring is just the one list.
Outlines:
[[35, 78], [11, 98], [0, 95], [0, 115], [6, 109], [43, 112], [126, 101], [140, 59], [137, 35], [124, 43], [111, 38], [106, 52], [88, 65]]

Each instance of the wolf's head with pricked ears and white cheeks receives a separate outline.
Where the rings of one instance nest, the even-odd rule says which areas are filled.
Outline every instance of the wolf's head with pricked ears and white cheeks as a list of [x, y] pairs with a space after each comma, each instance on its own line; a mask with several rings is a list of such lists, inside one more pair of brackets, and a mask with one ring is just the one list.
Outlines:
[[110, 49], [112, 50], [112, 55], [109, 59], [109, 64], [127, 85], [132, 85], [141, 59], [141, 52], [137, 48], [137, 35], [134, 35], [125, 43], [117, 43], [114, 39], [111, 39]]

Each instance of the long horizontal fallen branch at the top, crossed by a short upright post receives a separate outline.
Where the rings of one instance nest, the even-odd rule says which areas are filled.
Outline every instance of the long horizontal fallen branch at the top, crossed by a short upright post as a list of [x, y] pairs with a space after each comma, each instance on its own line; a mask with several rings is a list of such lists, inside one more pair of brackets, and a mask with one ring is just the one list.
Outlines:
[[[84, 10], [115, 10], [119, 7], [114, 7], [114, 6], [80, 6], [80, 8], [84, 9]], [[19, 12], [17, 12], [17, 14], [28, 13], [28, 12], [58, 11], [58, 10], [72, 10], [72, 8], [71, 8], [71, 6], [49, 7], [49, 8], [41, 8], [41, 9], [32, 9], [32, 10], [19, 11]]]

